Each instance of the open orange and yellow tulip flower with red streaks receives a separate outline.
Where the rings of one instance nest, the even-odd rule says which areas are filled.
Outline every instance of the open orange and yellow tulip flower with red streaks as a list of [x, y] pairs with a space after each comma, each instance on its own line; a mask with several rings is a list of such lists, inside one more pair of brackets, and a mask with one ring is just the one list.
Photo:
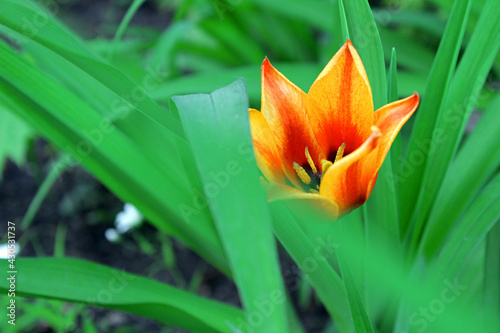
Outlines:
[[307, 94], [266, 58], [261, 111], [249, 112], [270, 200], [310, 201], [335, 217], [361, 206], [418, 103], [415, 93], [374, 112], [368, 77], [349, 40]]

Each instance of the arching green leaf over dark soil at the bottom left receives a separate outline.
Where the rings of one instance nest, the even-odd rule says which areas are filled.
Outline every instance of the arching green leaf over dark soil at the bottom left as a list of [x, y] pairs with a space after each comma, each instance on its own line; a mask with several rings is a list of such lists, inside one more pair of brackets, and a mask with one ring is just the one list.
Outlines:
[[[7, 267], [7, 260], [0, 260]], [[241, 310], [169, 285], [70, 258], [18, 258], [16, 295], [58, 299], [128, 312], [193, 332], [232, 333]], [[2, 272], [0, 290], [9, 290]]]

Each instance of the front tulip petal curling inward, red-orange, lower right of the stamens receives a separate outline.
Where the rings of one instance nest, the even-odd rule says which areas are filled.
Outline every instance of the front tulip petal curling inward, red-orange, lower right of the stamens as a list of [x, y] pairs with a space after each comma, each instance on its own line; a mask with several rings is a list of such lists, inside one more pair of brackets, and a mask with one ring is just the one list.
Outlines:
[[323, 175], [319, 192], [335, 201], [340, 214], [350, 212], [368, 199], [378, 172], [375, 162], [381, 135], [373, 127], [361, 147], [334, 163]]

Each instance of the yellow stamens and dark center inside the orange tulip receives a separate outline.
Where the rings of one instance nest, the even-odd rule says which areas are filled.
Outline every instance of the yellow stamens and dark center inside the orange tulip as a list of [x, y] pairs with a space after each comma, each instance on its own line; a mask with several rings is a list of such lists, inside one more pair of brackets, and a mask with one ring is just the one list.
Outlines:
[[297, 173], [301, 181], [301, 185], [305, 191], [311, 193], [319, 193], [319, 185], [321, 184], [321, 179], [325, 172], [330, 168], [335, 162], [338, 162], [344, 157], [345, 142], [337, 149], [337, 154], [335, 155], [335, 160], [333, 162], [329, 160], [321, 160], [321, 171], [318, 171], [314, 161], [309, 153], [309, 149], [306, 147], [305, 154], [307, 159], [307, 164], [300, 165], [293, 162], [293, 169]]

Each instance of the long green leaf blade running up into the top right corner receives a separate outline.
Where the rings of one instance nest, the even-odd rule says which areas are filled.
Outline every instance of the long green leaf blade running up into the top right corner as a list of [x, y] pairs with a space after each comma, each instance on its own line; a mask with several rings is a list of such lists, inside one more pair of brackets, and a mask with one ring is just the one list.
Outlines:
[[[431, 140], [429, 163], [424, 179], [425, 191], [420, 207], [423, 219], [435, 201], [446, 171], [458, 149], [462, 133], [472, 108], [476, 104], [486, 76], [500, 49], [500, 20], [495, 11], [496, 1], [488, 0], [476, 26], [474, 34], [460, 61], [446, 99], [446, 107], [439, 116], [436, 131]], [[454, 205], [454, 204], [453, 204]], [[420, 223], [418, 221], [418, 224]], [[423, 235], [421, 250], [430, 254], [436, 249], [451, 227], [451, 220], [444, 219], [429, 224]]]

